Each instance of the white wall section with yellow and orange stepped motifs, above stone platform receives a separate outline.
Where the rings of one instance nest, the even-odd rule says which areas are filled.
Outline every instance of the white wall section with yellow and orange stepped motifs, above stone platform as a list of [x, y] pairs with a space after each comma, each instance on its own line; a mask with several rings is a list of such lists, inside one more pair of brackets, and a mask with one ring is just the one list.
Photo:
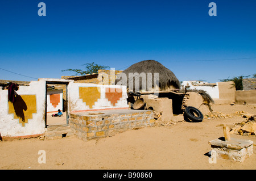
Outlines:
[[72, 112], [126, 109], [126, 86], [70, 82], [68, 110]]

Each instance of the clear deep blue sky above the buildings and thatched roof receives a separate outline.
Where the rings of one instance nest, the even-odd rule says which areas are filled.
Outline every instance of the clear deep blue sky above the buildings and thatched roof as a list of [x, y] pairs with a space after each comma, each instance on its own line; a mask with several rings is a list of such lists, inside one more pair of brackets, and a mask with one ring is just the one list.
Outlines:
[[180, 81], [256, 73], [255, 0], [0, 1], [0, 26], [0, 79], [60, 78], [90, 62], [124, 70], [142, 60]]

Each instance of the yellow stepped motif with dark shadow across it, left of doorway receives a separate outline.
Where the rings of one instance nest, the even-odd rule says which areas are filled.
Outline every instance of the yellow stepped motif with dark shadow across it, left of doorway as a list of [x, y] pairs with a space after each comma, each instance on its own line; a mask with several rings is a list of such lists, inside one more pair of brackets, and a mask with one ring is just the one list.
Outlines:
[[16, 95], [16, 101], [8, 102], [8, 106], [8, 113], [13, 113], [14, 119], [19, 119], [24, 127], [28, 119], [32, 119], [32, 114], [36, 113], [36, 95]]

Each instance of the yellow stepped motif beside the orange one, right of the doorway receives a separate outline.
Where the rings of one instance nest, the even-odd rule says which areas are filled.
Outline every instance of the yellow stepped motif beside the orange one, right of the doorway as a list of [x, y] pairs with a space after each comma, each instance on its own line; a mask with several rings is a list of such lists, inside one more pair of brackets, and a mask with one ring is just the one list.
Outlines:
[[98, 91], [98, 87], [79, 87], [79, 98], [92, 109], [95, 102], [101, 98], [101, 92]]

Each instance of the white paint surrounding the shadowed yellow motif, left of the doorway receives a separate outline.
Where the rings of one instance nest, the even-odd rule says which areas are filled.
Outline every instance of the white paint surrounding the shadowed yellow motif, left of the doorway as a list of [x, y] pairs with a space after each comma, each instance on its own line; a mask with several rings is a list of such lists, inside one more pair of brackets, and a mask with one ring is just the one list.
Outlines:
[[36, 113], [32, 119], [22, 127], [18, 119], [14, 119], [13, 113], [8, 113], [8, 90], [0, 90], [0, 132], [1, 136], [27, 136], [42, 134], [45, 132], [45, 101], [46, 101], [46, 82], [31, 81], [29, 86], [19, 86], [16, 91], [18, 95], [36, 95]]

